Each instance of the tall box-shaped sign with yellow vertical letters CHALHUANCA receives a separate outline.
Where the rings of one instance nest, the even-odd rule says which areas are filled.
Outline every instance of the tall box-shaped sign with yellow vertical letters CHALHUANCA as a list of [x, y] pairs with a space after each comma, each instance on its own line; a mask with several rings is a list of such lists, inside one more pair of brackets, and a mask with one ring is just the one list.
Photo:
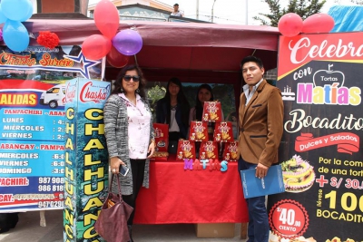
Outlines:
[[64, 241], [102, 241], [94, 222], [108, 191], [103, 105], [111, 82], [66, 82]]

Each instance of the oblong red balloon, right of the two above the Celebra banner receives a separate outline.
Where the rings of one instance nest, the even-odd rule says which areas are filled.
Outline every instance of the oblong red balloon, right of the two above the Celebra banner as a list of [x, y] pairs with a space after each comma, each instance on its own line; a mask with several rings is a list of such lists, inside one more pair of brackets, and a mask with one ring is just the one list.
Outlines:
[[334, 28], [334, 18], [328, 14], [315, 14], [304, 20], [302, 33], [329, 33]]

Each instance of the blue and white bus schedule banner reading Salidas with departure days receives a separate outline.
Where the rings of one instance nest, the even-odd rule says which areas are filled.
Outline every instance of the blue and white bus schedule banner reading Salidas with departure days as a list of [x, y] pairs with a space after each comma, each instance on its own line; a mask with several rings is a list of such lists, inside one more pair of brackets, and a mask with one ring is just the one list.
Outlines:
[[62, 209], [65, 82], [100, 79], [101, 63], [77, 45], [0, 50], [0, 212]]

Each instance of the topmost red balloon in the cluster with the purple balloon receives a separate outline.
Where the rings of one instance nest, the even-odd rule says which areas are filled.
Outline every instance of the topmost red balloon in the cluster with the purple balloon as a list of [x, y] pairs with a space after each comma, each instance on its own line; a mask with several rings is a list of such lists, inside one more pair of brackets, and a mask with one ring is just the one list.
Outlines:
[[94, 8], [93, 19], [100, 32], [111, 40], [120, 22], [116, 6], [110, 0], [101, 0]]

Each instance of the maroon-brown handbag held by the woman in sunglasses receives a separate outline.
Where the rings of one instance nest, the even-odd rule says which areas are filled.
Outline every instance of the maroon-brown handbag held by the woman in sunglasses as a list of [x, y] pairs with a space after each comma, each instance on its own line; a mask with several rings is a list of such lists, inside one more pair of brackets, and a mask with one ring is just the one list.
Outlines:
[[101, 208], [100, 215], [94, 223], [94, 230], [107, 242], [129, 241], [127, 219], [130, 218], [133, 208], [123, 201], [120, 179], [117, 176], [119, 194], [112, 192], [113, 177], [110, 181], [109, 193]]

